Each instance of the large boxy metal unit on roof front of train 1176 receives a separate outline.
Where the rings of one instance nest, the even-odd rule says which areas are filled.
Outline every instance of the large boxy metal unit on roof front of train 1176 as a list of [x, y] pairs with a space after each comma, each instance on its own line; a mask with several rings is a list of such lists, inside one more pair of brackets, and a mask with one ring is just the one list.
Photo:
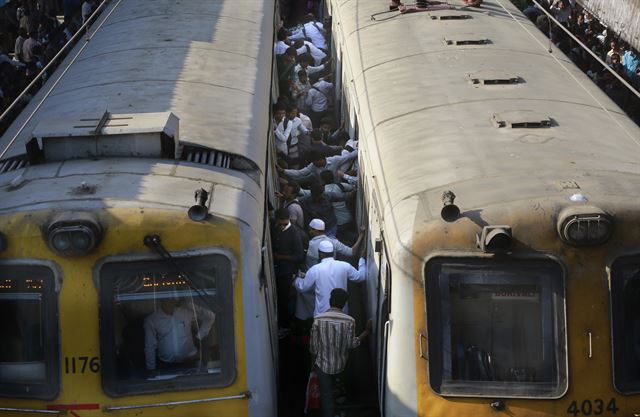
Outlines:
[[99, 157], [175, 158], [179, 119], [136, 113], [44, 119], [33, 130], [44, 161]]

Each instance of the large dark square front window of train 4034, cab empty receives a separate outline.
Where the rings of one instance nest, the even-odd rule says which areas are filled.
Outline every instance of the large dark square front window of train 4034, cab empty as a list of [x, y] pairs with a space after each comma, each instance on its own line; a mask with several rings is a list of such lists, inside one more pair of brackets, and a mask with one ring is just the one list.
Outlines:
[[429, 375], [450, 396], [557, 398], [567, 389], [562, 269], [550, 261], [427, 264]]

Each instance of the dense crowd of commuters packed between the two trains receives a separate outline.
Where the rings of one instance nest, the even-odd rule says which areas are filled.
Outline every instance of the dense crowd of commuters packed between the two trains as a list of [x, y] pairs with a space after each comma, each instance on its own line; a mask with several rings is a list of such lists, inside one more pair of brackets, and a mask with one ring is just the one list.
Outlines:
[[[290, 4], [289, 4], [290, 3]], [[312, 13], [314, 2], [288, 2], [302, 11], [297, 26], [282, 27], [274, 46], [280, 97], [273, 108], [280, 208], [271, 239], [281, 338], [281, 409], [314, 413], [305, 392], [310, 371], [319, 386], [322, 416], [344, 399], [349, 350], [371, 322], [349, 315], [348, 299], [367, 277], [360, 256], [364, 231], [356, 226], [358, 141], [334, 121], [330, 29]], [[350, 284], [351, 283], [351, 284]], [[356, 336], [356, 327], [362, 330]], [[327, 341], [332, 341], [328, 343]], [[342, 382], [341, 382], [342, 381]], [[305, 407], [305, 399], [307, 400]]]

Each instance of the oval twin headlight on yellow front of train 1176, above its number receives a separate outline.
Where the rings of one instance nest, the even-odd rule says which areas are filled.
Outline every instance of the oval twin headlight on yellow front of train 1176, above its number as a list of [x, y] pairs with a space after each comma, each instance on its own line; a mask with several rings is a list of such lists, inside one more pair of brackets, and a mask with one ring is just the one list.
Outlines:
[[49, 248], [62, 256], [85, 255], [102, 237], [102, 227], [86, 213], [66, 213], [55, 218], [47, 228]]

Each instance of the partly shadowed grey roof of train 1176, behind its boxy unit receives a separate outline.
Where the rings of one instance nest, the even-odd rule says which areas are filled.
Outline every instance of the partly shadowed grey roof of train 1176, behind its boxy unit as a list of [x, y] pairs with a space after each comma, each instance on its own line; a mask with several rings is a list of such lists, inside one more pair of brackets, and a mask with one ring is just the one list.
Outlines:
[[86, 48], [81, 39], [59, 67], [78, 54], [60, 83], [44, 98], [58, 69], [0, 138], [2, 150], [17, 135], [3, 159], [24, 154], [34, 130], [46, 130], [42, 121], [58, 121], [59, 133], [105, 111], [173, 113], [181, 143], [242, 156], [264, 172], [273, 11], [272, 0], [111, 2]]

